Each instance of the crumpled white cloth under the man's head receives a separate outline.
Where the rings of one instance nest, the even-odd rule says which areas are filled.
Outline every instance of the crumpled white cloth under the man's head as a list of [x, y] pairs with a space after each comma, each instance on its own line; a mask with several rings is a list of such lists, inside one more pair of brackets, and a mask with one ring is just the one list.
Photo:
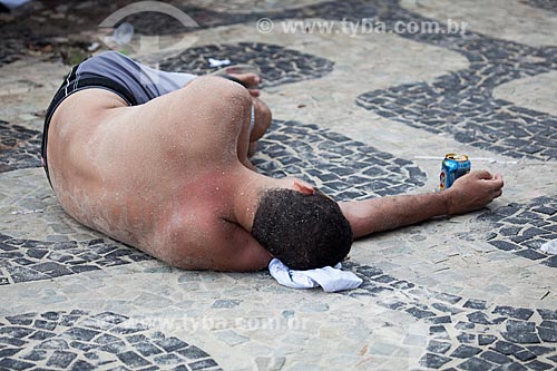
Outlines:
[[289, 269], [280, 260], [268, 263], [268, 272], [283, 286], [292, 289], [323, 287], [326, 292], [336, 292], [359, 287], [362, 279], [352, 272], [342, 271], [341, 263], [316, 270], [295, 271]]

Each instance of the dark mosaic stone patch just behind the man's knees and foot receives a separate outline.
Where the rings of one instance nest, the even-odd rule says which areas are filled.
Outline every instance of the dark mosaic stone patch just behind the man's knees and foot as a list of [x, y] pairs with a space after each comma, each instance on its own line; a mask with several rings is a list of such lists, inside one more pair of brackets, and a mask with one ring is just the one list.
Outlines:
[[207, 45], [187, 49], [179, 56], [164, 60], [160, 69], [205, 75], [218, 69], [218, 67], [209, 67], [209, 58], [228, 59], [231, 66], [248, 64], [258, 67], [263, 78], [261, 85], [263, 88], [320, 78], [333, 70], [333, 62], [325, 58], [277, 45], [257, 42]]

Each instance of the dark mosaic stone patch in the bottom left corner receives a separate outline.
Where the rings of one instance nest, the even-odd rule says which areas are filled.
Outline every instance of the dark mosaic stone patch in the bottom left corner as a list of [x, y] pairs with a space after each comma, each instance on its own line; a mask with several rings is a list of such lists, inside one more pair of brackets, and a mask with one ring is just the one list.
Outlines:
[[222, 370], [202, 349], [114, 312], [0, 319], [1, 370]]

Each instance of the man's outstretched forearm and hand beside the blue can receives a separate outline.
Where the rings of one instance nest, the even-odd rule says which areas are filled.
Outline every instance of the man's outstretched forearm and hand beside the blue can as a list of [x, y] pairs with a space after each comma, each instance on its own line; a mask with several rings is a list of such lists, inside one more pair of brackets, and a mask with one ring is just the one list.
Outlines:
[[444, 192], [353, 201], [340, 203], [340, 206], [358, 238], [436, 216], [479, 209], [501, 195], [502, 185], [500, 175], [479, 170], [458, 178]]

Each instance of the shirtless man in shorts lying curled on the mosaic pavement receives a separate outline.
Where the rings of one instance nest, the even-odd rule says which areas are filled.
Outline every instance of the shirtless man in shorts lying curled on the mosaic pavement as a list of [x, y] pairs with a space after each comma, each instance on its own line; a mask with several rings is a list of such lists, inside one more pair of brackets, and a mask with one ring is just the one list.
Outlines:
[[258, 76], [232, 79], [163, 72], [114, 51], [74, 67], [42, 143], [66, 212], [185, 269], [254, 271], [275, 256], [306, 270], [334, 265], [353, 238], [501, 195], [500, 175], [472, 172], [442, 193], [338, 204], [302, 180], [257, 174], [248, 155], [271, 111], [251, 88]]

